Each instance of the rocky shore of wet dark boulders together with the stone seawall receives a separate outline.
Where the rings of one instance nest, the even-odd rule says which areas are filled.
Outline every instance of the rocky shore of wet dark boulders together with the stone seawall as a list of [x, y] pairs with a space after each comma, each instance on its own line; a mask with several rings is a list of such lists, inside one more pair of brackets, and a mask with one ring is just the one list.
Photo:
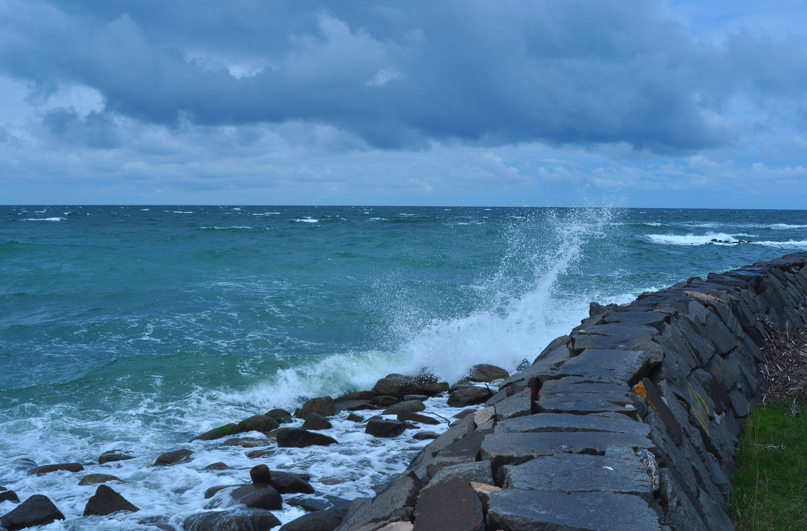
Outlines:
[[[410, 450], [419, 451], [374, 497], [347, 500], [324, 492], [322, 481], [315, 488], [305, 473], [257, 464], [248, 483], [228, 475], [207, 488], [204, 510], [181, 521], [148, 516], [136, 529], [734, 529], [725, 502], [743, 419], [763, 392], [763, 322], [807, 330], [805, 265], [807, 253], [786, 255], [627, 305], [592, 303], [590, 317], [513, 375], [480, 365], [451, 386], [431, 375], [387, 375], [367, 391], [308, 400], [294, 414], [274, 409], [211, 429], [191, 442], [255, 448], [248, 457], [257, 460], [359, 434], [382, 445], [411, 437]], [[173, 450], [152, 467], [177, 467], [197, 454]], [[136, 457], [113, 450], [98, 464], [37, 467], [20, 458], [10, 466], [31, 476], [92, 467], [77, 483], [98, 485], [83, 513], [97, 517], [144, 509], [107, 485], [121, 479], [100, 472]], [[197, 470], [232, 471], [224, 462]], [[34, 494], [19, 503], [15, 485], [7, 487], [0, 503], [17, 505], [0, 516], [5, 529], [65, 518], [58, 500]], [[290, 506], [303, 514], [284, 524], [276, 512]]]

